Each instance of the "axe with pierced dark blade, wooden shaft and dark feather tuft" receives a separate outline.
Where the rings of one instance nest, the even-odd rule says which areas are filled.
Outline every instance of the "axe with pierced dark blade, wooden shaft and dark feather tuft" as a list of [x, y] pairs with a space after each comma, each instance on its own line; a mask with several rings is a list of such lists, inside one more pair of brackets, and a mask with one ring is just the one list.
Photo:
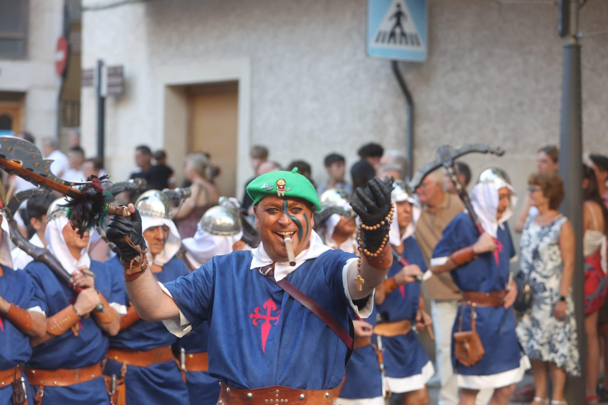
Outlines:
[[99, 226], [109, 215], [128, 215], [125, 207], [114, 206], [111, 196], [103, 192], [105, 178], [91, 176], [86, 182], [66, 181], [50, 171], [52, 162], [43, 159], [40, 150], [31, 142], [0, 136], [0, 167], [32, 184], [66, 196], [66, 216], [80, 236]]

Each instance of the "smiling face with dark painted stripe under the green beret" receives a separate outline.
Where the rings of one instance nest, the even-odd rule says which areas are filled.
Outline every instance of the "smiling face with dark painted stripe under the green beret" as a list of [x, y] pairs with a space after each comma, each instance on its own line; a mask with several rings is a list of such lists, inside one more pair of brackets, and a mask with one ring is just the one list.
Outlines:
[[282, 198], [269, 195], [254, 207], [264, 251], [273, 261], [286, 262], [285, 237], [292, 240], [295, 256], [308, 248], [311, 229], [314, 226], [314, 209], [301, 198]]

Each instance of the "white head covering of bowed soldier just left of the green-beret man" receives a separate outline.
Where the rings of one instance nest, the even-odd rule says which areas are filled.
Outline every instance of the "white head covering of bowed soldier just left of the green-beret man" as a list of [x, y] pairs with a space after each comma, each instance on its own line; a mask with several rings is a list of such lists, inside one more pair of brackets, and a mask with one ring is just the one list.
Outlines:
[[182, 240], [182, 244], [186, 249], [188, 260], [195, 268], [198, 268], [211, 260], [213, 256], [227, 255], [232, 252], [232, 245], [240, 241], [242, 237], [242, 230], [236, 235], [213, 235], [198, 224], [194, 237], [185, 238]]

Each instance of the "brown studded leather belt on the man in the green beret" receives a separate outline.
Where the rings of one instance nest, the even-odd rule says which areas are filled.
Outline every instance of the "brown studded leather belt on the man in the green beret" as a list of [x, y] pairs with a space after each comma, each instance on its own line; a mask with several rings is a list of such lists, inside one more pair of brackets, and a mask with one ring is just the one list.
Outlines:
[[[333, 389], [299, 390], [283, 386], [256, 389], [240, 389], [227, 386], [222, 381], [219, 390], [219, 405], [253, 404], [309, 404], [333, 405]], [[268, 401], [268, 402], [266, 402]], [[272, 402], [271, 402], [272, 401]]]

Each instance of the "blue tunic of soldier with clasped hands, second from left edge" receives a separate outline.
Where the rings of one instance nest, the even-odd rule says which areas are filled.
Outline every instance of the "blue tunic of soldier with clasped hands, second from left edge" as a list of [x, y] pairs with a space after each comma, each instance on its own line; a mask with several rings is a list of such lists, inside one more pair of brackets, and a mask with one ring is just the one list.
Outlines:
[[[52, 316], [75, 302], [76, 294], [63, 282], [55, 277], [53, 272], [40, 261], [32, 261], [26, 268], [36, 285], [36, 299], [40, 300], [46, 316]], [[124, 305], [124, 297], [117, 294], [117, 280], [104, 263], [91, 260], [91, 268], [95, 273], [95, 289], [102, 293], [108, 302]], [[97, 326], [93, 317], [78, 321], [78, 336], [71, 330], [50, 341], [33, 348], [32, 358], [26, 363], [31, 369], [76, 369], [98, 363], [105, 358], [109, 347], [109, 339]], [[37, 390], [34, 386], [33, 390]], [[108, 404], [103, 377], [72, 384], [67, 387], [44, 387], [45, 403], [51, 404]]]

